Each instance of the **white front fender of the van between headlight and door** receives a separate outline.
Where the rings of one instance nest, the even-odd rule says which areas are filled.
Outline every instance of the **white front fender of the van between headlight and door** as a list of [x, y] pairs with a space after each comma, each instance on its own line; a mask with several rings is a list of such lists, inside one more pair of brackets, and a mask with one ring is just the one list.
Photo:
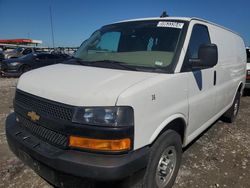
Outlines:
[[181, 117], [187, 122], [187, 75], [159, 74], [147, 79], [124, 91], [117, 105], [134, 108], [134, 149], [148, 145], [173, 117]]

